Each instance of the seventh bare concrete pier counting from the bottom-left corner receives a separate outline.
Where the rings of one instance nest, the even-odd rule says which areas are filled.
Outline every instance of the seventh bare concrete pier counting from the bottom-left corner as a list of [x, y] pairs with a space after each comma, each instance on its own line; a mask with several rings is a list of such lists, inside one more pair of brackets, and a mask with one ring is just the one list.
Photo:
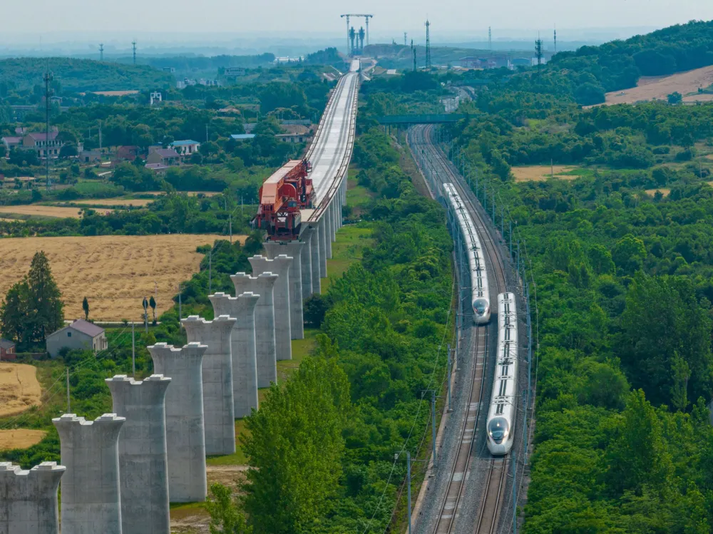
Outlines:
[[[260, 295], [255, 307], [255, 356], [257, 359], [257, 387], [277, 382], [277, 337], [275, 332], [274, 292], [277, 274], [263, 272], [251, 277], [244, 272], [231, 274], [235, 294], [252, 291]], [[257, 408], [257, 406], [256, 406]]]

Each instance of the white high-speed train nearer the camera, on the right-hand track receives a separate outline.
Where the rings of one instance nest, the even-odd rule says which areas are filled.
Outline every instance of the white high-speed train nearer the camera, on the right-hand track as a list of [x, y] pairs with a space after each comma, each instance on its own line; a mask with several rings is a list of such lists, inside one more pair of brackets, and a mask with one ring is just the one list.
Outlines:
[[510, 452], [515, 434], [515, 390], [518, 381], [518, 310], [513, 293], [498, 295], [498, 354], [486, 428], [488, 449]]

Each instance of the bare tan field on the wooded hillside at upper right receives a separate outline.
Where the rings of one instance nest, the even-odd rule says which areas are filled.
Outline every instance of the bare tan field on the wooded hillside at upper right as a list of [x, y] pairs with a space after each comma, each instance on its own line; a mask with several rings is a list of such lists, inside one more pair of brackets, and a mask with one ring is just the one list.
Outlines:
[[[632, 104], [639, 101], [666, 100], [671, 93], [678, 91], [682, 95], [695, 93], [699, 87], [707, 88], [713, 84], [713, 66], [697, 68], [672, 76], [644, 76], [637, 87], [624, 91], [607, 93], [606, 106], [612, 104]], [[623, 93], [623, 94], [622, 94]], [[710, 101], [710, 95], [692, 95], [684, 98], [686, 102]]]

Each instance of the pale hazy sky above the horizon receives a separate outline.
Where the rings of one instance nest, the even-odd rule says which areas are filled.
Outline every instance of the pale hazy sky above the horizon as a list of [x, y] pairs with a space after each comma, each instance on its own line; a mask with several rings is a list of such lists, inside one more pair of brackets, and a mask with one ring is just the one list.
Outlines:
[[[398, 38], [423, 32], [426, 16], [432, 35], [481, 36], [500, 29], [548, 31], [563, 35], [579, 28], [668, 26], [690, 19], [713, 19], [713, 0], [34, 0], [3, 1], [0, 34], [33, 36], [71, 32], [284, 32], [301, 38], [312, 32], [341, 32], [344, 12], [372, 13], [372, 36]], [[361, 19], [363, 20], [363, 19]], [[361, 24], [361, 21], [358, 22]], [[576, 37], [576, 32], [572, 38]], [[374, 39], [372, 39], [374, 42]]]

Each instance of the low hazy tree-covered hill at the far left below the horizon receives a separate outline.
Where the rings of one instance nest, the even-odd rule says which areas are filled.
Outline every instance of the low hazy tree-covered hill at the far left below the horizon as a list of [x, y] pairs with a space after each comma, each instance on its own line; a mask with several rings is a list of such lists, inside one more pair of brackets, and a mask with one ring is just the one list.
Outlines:
[[11, 58], [0, 60], [0, 83], [18, 91], [42, 85], [46, 69], [62, 92], [143, 91], [173, 86], [170, 73], [148, 65], [125, 65], [74, 58]]

